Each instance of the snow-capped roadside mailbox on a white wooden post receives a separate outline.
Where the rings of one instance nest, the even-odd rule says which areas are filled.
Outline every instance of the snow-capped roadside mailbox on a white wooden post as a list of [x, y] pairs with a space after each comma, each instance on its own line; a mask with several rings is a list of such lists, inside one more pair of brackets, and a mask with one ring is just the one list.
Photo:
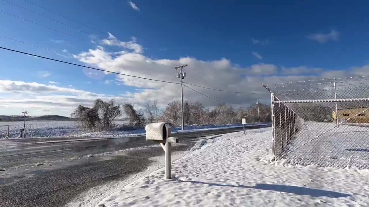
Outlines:
[[165, 179], [172, 179], [172, 143], [179, 143], [177, 137], [171, 137], [170, 125], [166, 122], [147, 124], [146, 140], [152, 140], [161, 145], [165, 151]]

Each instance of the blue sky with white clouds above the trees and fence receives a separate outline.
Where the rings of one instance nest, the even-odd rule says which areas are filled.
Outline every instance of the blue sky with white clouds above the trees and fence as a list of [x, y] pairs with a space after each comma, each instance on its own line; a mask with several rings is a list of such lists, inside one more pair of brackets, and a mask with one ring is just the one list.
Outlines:
[[[187, 69], [188, 83], [214, 88], [265, 92], [261, 81], [288, 81], [314, 77], [340, 77], [346, 74], [363, 74], [369, 55], [368, 14], [365, 1], [42, 1], [29, 0], [89, 27], [55, 15], [24, 0], [7, 0], [64, 24], [79, 28], [86, 34], [59, 24], [6, 1], [0, 2], [0, 10], [17, 15], [38, 24], [65, 32], [78, 38], [94, 41], [104, 47], [99, 56], [90, 53], [89, 60], [81, 60], [83, 51], [96, 50], [97, 45], [40, 27], [30, 22], [0, 12], [0, 35], [34, 45], [74, 54], [56, 54], [45, 49], [0, 38], [0, 45], [7, 48], [35, 53], [69, 62], [88, 64], [101, 69], [115, 70], [137, 76], [178, 81], [172, 66], [192, 63]], [[109, 39], [108, 32], [115, 37]], [[135, 41], [132, 41], [134, 37]], [[103, 40], [110, 41], [110, 45]], [[125, 42], [125, 43], [122, 43]], [[118, 44], [130, 46], [117, 46]], [[132, 45], [142, 51], [132, 50]], [[131, 47], [131, 48], [130, 48]], [[125, 51], [124, 57], [110, 54]], [[0, 114], [15, 114], [21, 106], [30, 108], [34, 115], [58, 113], [69, 115], [72, 106], [87, 104], [93, 97], [115, 98], [118, 102], [138, 102], [160, 98], [162, 105], [176, 99], [177, 85], [137, 83], [113, 74], [82, 70], [48, 60], [0, 50], [1, 80], [21, 81], [9, 87], [0, 87]], [[65, 57], [66, 56], [66, 57]], [[130, 59], [131, 58], [131, 59]], [[138, 59], [137, 59], [138, 58]], [[182, 58], [182, 59], [181, 59]], [[165, 59], [160, 65], [158, 61]], [[99, 60], [114, 64], [92, 63]], [[152, 61], [148, 63], [149, 61]], [[155, 62], [157, 61], [157, 62]], [[190, 64], [191, 66], [191, 64]], [[355, 67], [355, 68], [353, 68]], [[124, 68], [124, 69], [123, 69]], [[198, 73], [197, 71], [201, 71]], [[93, 74], [88, 74], [89, 72]], [[206, 74], [208, 77], [204, 77]], [[154, 77], [156, 76], [156, 77]], [[94, 78], [92, 78], [94, 77]], [[229, 80], [224, 80], [227, 77]], [[277, 77], [277, 78], [276, 78]], [[204, 81], [205, 79], [205, 81]], [[229, 82], [228, 82], [229, 81]], [[24, 83], [23, 83], [24, 82]], [[49, 83], [51, 82], [51, 83]], [[145, 81], [144, 81], [145, 82]], [[38, 90], [41, 86], [29, 83], [55, 85], [65, 88], [57, 91]], [[27, 85], [28, 86], [25, 86]], [[10, 88], [10, 89], [9, 89]], [[33, 88], [33, 89], [30, 89]], [[89, 97], [76, 91], [93, 92]], [[14, 89], [14, 90], [13, 90]], [[151, 91], [152, 90], [152, 91]], [[202, 91], [221, 101], [247, 106], [254, 97], [237, 97]], [[128, 93], [128, 95], [127, 95]], [[216, 105], [206, 97], [190, 91], [188, 100], [202, 101], [206, 106]], [[63, 98], [80, 99], [68, 102]], [[261, 95], [267, 102], [268, 96]], [[175, 97], [175, 98], [172, 98]], [[47, 99], [42, 105], [37, 100]], [[85, 100], [85, 101], [82, 101]], [[9, 101], [12, 100], [12, 101]], [[60, 103], [58, 106], [53, 103]], [[70, 101], [70, 100], [69, 100]], [[61, 107], [61, 108], [60, 108]], [[60, 110], [62, 109], [62, 110]]]

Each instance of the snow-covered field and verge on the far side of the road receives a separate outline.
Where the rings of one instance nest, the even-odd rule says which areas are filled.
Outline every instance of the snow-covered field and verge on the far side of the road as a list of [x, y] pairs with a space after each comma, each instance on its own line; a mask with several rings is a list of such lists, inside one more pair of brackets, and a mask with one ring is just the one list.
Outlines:
[[[123, 124], [124, 121], [115, 121], [115, 124]], [[19, 137], [19, 129], [23, 129], [22, 122], [0, 122], [0, 125], [10, 125], [10, 138]], [[249, 124], [250, 125], [250, 124]], [[186, 126], [182, 131], [179, 127], [172, 127], [172, 131], [190, 132], [198, 130], [225, 129], [231, 127], [240, 127], [242, 124], [224, 124], [208, 126]], [[92, 133], [83, 133], [78, 127], [77, 122], [73, 121], [27, 121], [27, 137], [127, 137], [141, 136], [145, 134], [145, 129], [131, 131], [101, 131]], [[0, 127], [0, 138], [5, 138], [7, 127]]]

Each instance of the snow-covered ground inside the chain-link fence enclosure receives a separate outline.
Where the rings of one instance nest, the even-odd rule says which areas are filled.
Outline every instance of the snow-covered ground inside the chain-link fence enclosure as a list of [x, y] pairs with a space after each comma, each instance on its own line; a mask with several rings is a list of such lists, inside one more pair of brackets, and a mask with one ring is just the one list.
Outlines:
[[337, 129], [334, 123], [305, 122], [295, 137], [285, 157], [295, 164], [369, 166], [369, 127], [343, 124]]

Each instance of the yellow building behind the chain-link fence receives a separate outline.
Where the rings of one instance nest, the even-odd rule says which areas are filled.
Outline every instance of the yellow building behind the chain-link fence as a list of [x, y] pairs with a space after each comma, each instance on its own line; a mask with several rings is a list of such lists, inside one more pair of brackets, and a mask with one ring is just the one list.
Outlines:
[[[351, 123], [369, 123], [369, 109], [365, 112], [364, 110], [368, 109], [368, 107], [363, 108], [351, 108], [351, 109], [338, 109], [338, 121], [342, 122], [346, 119], [351, 118], [348, 122]], [[362, 113], [363, 112], [363, 113]], [[355, 116], [357, 115], [357, 116]], [[355, 116], [355, 117], [353, 117]], [[336, 121], [336, 111], [332, 111], [333, 122]]]

